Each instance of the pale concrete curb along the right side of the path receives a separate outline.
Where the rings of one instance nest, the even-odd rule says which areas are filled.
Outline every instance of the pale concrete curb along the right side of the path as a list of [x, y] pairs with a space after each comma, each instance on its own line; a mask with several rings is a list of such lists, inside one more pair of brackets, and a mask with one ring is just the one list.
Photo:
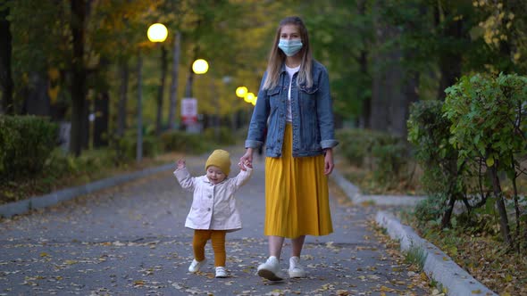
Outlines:
[[[342, 177], [338, 171], [333, 170], [331, 178], [344, 190], [348, 198], [354, 203], [365, 201], [375, 202], [378, 205], [414, 206], [425, 197], [389, 196], [389, 195], [362, 195], [356, 185], [351, 184]], [[400, 242], [402, 251], [422, 251], [426, 258], [423, 270], [429, 278], [437, 281], [450, 296], [465, 295], [496, 295], [485, 285], [478, 282], [472, 275], [459, 267], [447, 254], [438, 247], [415, 234], [410, 226], [405, 226], [386, 211], [378, 211], [375, 222], [385, 228], [392, 239]]]

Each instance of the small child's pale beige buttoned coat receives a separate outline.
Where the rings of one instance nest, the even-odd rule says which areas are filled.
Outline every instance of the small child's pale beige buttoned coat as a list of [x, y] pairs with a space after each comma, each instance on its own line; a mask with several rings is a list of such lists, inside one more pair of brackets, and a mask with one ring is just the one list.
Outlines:
[[213, 185], [204, 176], [191, 177], [188, 169], [176, 169], [174, 176], [183, 189], [194, 193], [185, 227], [236, 231], [241, 229], [241, 218], [234, 193], [245, 185], [253, 170], [240, 170], [238, 176], [227, 177], [222, 183]]

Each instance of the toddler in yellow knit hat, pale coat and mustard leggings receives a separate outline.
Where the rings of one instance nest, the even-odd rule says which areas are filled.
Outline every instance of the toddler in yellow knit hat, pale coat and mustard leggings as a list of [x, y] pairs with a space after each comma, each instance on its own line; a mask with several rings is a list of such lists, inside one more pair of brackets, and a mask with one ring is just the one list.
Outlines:
[[188, 212], [185, 226], [194, 229], [194, 259], [188, 271], [196, 273], [205, 265], [205, 244], [210, 239], [213, 244], [216, 277], [227, 277], [225, 270], [225, 234], [241, 229], [241, 219], [236, 208], [234, 193], [245, 185], [252, 174], [252, 166], [247, 161], [246, 170], [238, 176], [228, 178], [230, 155], [224, 150], [214, 150], [205, 163], [206, 175], [191, 177], [185, 160], [178, 160], [174, 176], [183, 189], [194, 193], [192, 207]]

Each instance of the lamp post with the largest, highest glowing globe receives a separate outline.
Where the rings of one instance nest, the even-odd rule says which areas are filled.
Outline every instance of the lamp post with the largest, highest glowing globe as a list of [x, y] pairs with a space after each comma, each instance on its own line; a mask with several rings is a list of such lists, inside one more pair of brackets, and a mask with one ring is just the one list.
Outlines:
[[[168, 36], [168, 30], [161, 23], [151, 25], [146, 31], [146, 37], [151, 42], [163, 42]], [[143, 82], [142, 82], [143, 61], [139, 50], [138, 54], [138, 145], [136, 149], [136, 161], [143, 160]]]

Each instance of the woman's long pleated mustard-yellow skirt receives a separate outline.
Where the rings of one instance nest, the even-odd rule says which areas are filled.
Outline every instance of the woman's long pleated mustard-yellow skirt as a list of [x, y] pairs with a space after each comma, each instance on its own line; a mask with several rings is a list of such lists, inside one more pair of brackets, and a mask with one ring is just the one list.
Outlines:
[[292, 127], [286, 124], [282, 156], [265, 158], [263, 234], [297, 238], [333, 232], [324, 156], [292, 156]]

